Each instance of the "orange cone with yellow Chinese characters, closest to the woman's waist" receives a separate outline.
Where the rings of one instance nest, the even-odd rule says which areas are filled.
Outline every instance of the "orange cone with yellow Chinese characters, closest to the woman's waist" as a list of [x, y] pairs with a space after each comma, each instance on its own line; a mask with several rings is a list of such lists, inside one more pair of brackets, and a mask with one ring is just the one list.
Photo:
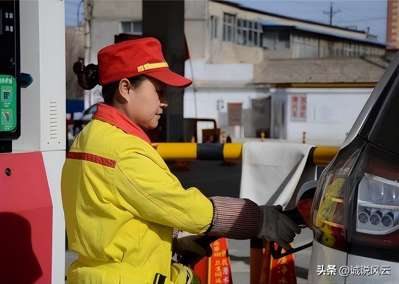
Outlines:
[[194, 268], [194, 272], [205, 284], [233, 284], [227, 239], [222, 238], [211, 243], [212, 256], [203, 258]]

